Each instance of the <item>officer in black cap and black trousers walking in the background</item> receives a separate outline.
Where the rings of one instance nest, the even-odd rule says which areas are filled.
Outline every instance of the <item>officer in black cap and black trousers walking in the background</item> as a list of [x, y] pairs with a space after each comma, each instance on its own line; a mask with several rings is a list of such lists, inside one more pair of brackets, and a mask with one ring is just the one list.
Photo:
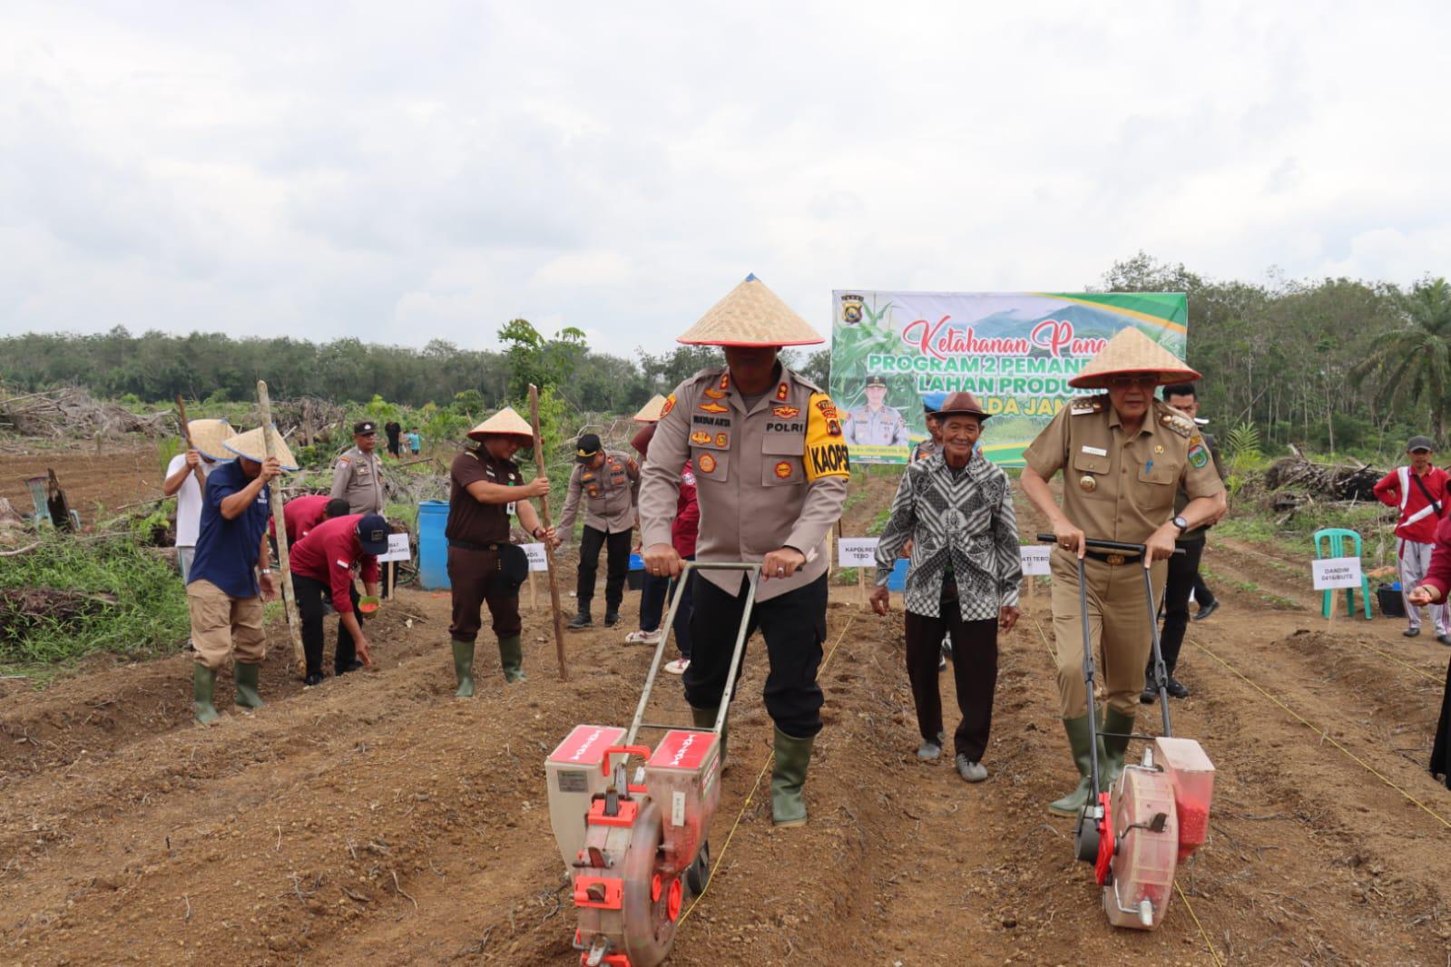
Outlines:
[[579, 541], [579, 613], [569, 619], [572, 631], [589, 628], [589, 602], [595, 596], [599, 548], [605, 548], [605, 628], [620, 623], [620, 602], [625, 594], [630, 570], [630, 532], [634, 529], [636, 494], [640, 489], [640, 464], [633, 457], [605, 451], [595, 433], [579, 438], [575, 471], [569, 476], [569, 496], [560, 515], [557, 534], [567, 541], [575, 532], [579, 506], [585, 506], [585, 532]]

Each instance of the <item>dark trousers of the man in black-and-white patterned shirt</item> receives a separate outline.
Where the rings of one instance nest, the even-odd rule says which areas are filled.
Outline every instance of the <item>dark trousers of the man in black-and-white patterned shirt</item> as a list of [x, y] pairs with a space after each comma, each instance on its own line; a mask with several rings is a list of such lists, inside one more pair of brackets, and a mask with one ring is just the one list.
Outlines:
[[997, 692], [997, 618], [962, 621], [958, 602], [942, 602], [942, 616], [907, 612], [907, 680], [917, 706], [917, 731], [937, 741], [942, 732], [942, 693], [937, 660], [942, 635], [952, 639], [952, 680], [962, 721], [952, 736], [953, 750], [981, 763], [992, 731], [992, 694]]

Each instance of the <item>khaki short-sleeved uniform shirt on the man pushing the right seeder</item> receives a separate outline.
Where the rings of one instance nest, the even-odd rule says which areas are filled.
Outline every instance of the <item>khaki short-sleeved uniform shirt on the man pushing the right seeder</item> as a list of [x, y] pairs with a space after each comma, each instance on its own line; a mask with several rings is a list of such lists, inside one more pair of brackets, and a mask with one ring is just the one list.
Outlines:
[[1043, 480], [1064, 471], [1064, 515], [1090, 538], [1143, 544], [1193, 500], [1225, 489], [1199, 426], [1154, 400], [1133, 436], [1107, 394], [1069, 400], [1023, 452]]

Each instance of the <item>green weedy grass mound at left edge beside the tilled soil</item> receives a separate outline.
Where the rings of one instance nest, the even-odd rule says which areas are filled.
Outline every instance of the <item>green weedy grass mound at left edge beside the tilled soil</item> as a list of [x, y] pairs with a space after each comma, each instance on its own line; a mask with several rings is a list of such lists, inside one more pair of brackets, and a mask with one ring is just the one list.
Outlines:
[[[129, 538], [48, 535], [4, 560], [0, 592], [7, 667], [67, 664], [100, 651], [151, 655], [174, 649], [190, 626], [176, 568]], [[35, 602], [54, 606], [28, 606]]]

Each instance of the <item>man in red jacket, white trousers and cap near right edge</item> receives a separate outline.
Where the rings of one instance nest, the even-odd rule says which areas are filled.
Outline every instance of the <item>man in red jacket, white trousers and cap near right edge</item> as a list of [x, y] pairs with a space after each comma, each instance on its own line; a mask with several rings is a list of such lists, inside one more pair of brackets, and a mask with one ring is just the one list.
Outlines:
[[[1451, 477], [1431, 462], [1432, 444], [1426, 436], [1412, 436], [1406, 444], [1410, 455], [1409, 467], [1397, 467], [1376, 484], [1376, 497], [1390, 507], [1400, 509], [1396, 523], [1396, 560], [1400, 565], [1400, 594], [1406, 602], [1406, 638], [1421, 634], [1421, 609], [1410, 600], [1410, 592], [1421, 584], [1431, 570], [1431, 549], [1435, 547], [1436, 525], [1445, 516], [1447, 486]], [[1431, 605], [1431, 616], [1436, 623], [1436, 641], [1451, 645], [1451, 625], [1447, 623], [1445, 605]]]

